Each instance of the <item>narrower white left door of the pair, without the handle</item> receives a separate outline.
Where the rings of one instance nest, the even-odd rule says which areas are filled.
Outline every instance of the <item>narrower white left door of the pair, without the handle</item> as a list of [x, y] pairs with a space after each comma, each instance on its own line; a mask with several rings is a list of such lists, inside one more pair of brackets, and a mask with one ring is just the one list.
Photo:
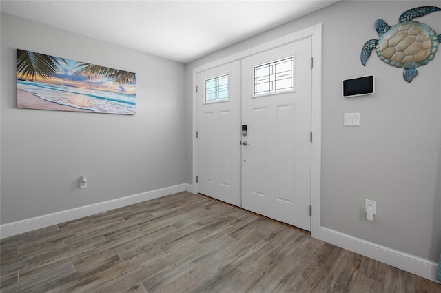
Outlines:
[[197, 74], [198, 192], [240, 206], [240, 61]]

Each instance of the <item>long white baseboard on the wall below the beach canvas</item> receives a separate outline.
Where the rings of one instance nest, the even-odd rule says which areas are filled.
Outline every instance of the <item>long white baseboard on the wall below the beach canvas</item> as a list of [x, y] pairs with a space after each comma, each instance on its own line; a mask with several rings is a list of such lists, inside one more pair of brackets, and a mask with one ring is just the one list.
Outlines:
[[183, 183], [168, 188], [161, 188], [158, 190], [121, 197], [120, 199], [112, 199], [111, 201], [103, 201], [102, 203], [94, 203], [80, 208], [54, 212], [53, 214], [45, 214], [43, 216], [36, 216], [30, 219], [7, 223], [0, 225], [0, 239], [188, 190], [192, 190], [192, 185]]

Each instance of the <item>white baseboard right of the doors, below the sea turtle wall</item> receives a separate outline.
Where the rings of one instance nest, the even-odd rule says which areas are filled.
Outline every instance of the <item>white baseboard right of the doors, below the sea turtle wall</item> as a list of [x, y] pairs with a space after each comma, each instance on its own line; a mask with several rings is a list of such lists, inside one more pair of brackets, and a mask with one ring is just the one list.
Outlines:
[[424, 279], [440, 283], [436, 280], [438, 263], [429, 261], [429, 259], [393, 250], [392, 248], [325, 227], [320, 228], [320, 239], [351, 252], [367, 256], [370, 259], [397, 267], [400, 270], [416, 274]]

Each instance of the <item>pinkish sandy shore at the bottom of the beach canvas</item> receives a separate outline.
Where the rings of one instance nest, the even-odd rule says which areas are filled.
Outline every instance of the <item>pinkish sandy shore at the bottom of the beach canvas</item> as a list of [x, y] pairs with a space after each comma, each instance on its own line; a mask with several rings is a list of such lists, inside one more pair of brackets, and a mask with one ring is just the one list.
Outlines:
[[32, 92], [25, 92], [24, 90], [17, 90], [17, 107], [39, 110], [44, 109], [56, 111], [93, 112], [91, 110], [83, 110], [70, 107], [68, 105], [59, 105], [57, 103], [45, 101], [32, 94]]

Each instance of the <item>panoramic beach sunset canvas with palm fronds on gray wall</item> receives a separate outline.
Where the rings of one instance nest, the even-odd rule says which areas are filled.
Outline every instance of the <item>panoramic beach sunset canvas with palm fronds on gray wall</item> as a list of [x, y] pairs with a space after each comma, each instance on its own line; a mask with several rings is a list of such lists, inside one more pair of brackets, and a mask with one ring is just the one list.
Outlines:
[[17, 49], [17, 107], [132, 115], [136, 74]]

